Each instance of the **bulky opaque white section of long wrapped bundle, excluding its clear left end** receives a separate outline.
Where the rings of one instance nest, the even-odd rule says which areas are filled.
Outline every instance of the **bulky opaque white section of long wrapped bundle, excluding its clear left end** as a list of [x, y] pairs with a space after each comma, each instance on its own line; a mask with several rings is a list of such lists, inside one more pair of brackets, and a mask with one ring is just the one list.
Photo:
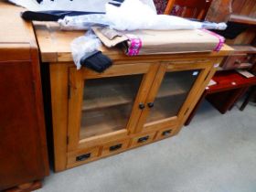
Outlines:
[[106, 16], [116, 30], [176, 30], [196, 28], [225, 29], [227, 25], [190, 21], [178, 16], [157, 15], [149, 5], [139, 0], [125, 0], [121, 6], [106, 4]]

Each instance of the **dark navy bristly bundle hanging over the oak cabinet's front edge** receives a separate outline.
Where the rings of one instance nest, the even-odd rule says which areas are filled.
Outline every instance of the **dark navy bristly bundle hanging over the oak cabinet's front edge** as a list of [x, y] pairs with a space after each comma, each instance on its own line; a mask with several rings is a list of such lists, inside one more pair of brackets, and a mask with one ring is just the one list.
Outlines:
[[112, 66], [112, 59], [103, 55], [101, 51], [95, 50], [90, 53], [86, 53], [81, 59], [80, 64], [83, 67], [93, 69], [97, 72], [103, 72]]

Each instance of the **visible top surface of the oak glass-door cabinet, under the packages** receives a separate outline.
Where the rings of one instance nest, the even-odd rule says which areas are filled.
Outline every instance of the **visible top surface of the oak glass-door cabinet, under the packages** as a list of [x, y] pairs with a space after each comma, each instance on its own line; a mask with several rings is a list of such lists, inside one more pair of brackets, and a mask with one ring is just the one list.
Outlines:
[[[53, 22], [34, 22], [36, 29], [38, 46], [40, 48], [41, 59], [43, 62], [69, 62], [73, 61], [70, 52], [70, 42], [75, 37], [84, 35], [84, 31], [61, 31], [58, 24]], [[141, 60], [141, 59], [178, 59], [178, 58], [202, 58], [202, 57], [222, 57], [229, 55], [233, 48], [224, 45], [219, 52], [204, 53], [180, 53], [167, 55], [146, 55], [128, 57], [120, 48], [101, 48], [102, 52], [112, 60]]]

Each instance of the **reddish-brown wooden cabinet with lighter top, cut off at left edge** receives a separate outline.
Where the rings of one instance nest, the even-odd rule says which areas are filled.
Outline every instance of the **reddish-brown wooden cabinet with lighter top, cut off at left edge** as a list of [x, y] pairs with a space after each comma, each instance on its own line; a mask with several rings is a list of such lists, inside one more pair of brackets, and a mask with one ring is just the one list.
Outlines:
[[21, 8], [0, 9], [0, 191], [31, 191], [48, 176], [37, 41]]

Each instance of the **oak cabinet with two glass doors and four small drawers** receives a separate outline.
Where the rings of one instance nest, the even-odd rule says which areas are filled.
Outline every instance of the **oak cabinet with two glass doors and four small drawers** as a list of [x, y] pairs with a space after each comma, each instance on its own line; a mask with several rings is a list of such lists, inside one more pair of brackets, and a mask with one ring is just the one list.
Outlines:
[[219, 52], [127, 57], [102, 73], [77, 70], [70, 42], [84, 32], [34, 23], [42, 66], [50, 81], [55, 171], [173, 136], [208, 85], [224, 56]]

